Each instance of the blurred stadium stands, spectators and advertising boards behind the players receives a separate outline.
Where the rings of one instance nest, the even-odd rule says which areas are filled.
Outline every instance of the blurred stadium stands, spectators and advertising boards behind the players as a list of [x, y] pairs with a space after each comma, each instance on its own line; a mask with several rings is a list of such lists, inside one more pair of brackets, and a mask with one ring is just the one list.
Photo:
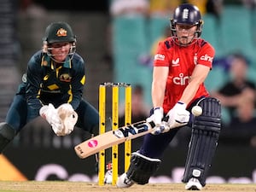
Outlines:
[[[201, 38], [216, 50], [206, 85], [212, 96], [219, 97], [224, 103], [223, 131], [208, 179], [212, 183], [256, 183], [254, 0], [95, 0], [90, 3], [79, 0], [0, 0], [1, 122], [22, 74], [26, 72], [27, 61], [42, 47], [45, 27], [58, 20], [67, 21], [77, 36], [77, 52], [85, 61], [84, 98], [87, 101], [98, 108], [99, 84], [125, 82], [140, 87], [143, 99], [138, 102], [143, 103], [143, 108], [150, 108], [154, 49], [160, 39], [170, 36], [172, 12], [178, 4], [185, 2], [194, 3], [201, 9], [204, 20]], [[236, 103], [230, 105], [226, 104], [228, 97], [218, 94], [227, 92], [225, 86], [229, 89], [230, 86], [226, 84], [232, 84], [236, 79], [231, 68], [238, 62], [237, 58], [242, 58], [240, 61], [246, 66], [241, 79], [250, 82], [251, 86], [250, 91], [243, 91], [244, 86], [237, 91], [228, 91], [226, 96], [236, 95]], [[121, 91], [119, 97], [120, 102], [124, 102], [124, 92]], [[110, 95], [108, 105], [111, 105]], [[110, 110], [107, 116], [111, 116]], [[144, 118], [145, 113], [140, 113], [140, 117]], [[184, 128], [170, 144], [163, 166], [154, 177], [155, 182], [180, 182], [189, 134], [190, 131]], [[86, 137], [79, 129], [70, 136], [56, 137], [51, 130], [41, 127], [25, 128], [1, 155], [0, 172], [9, 166], [12, 168], [8, 172], [12, 170], [14, 173], [1, 174], [0, 180], [96, 181], [95, 157], [79, 160], [73, 151], [73, 146]], [[140, 139], [133, 141], [132, 148], [137, 149], [140, 142]]]

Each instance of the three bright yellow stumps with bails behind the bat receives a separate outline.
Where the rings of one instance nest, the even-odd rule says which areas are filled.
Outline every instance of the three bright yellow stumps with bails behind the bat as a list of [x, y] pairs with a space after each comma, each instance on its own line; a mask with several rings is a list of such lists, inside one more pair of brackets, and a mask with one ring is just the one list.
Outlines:
[[[99, 87], [99, 113], [100, 113], [100, 127], [99, 134], [106, 131], [106, 89], [112, 88], [112, 130], [119, 128], [119, 88], [125, 88], [125, 125], [131, 125], [131, 84], [126, 83], [110, 83], [106, 82], [100, 84]], [[112, 185], [115, 185], [118, 178], [118, 160], [119, 160], [119, 146], [114, 145], [112, 148]], [[98, 184], [104, 185], [106, 156], [105, 150], [99, 153], [99, 172]], [[131, 160], [131, 140], [125, 142], [125, 172], [130, 166]]]

